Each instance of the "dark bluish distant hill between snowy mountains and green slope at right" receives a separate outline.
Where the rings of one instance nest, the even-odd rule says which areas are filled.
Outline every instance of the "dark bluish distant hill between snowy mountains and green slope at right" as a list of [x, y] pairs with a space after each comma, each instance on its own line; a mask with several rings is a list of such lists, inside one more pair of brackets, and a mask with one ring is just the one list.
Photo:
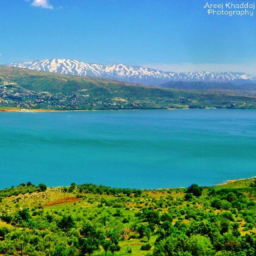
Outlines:
[[167, 82], [160, 84], [162, 87], [184, 90], [256, 90], [256, 83], [232, 84], [232, 83], [206, 83], [206, 82]]

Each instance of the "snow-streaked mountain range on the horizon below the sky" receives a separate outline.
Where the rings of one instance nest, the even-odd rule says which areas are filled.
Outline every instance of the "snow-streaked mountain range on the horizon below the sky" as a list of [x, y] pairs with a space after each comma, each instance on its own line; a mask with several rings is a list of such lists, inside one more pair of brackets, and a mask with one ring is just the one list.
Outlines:
[[28, 62], [10, 63], [7, 66], [29, 68], [77, 76], [98, 76], [134, 82], [140, 84], [160, 85], [170, 81], [184, 82], [232, 82], [246, 84], [256, 82], [256, 77], [237, 72], [164, 72], [152, 68], [129, 66], [124, 64], [91, 64], [70, 59], [45, 59]]

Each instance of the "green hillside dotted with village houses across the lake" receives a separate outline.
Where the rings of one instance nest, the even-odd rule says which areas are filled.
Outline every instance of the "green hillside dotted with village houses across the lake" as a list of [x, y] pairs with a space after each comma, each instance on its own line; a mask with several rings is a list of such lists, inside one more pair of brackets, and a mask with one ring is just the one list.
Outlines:
[[232, 92], [168, 89], [89, 76], [0, 66], [0, 108], [256, 108], [256, 96]]

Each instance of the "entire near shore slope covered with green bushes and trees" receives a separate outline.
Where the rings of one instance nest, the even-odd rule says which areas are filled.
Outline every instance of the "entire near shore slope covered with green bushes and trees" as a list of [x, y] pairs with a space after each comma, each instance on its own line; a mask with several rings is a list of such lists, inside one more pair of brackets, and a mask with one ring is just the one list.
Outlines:
[[136, 190], [93, 184], [0, 190], [0, 254], [253, 256], [256, 180]]

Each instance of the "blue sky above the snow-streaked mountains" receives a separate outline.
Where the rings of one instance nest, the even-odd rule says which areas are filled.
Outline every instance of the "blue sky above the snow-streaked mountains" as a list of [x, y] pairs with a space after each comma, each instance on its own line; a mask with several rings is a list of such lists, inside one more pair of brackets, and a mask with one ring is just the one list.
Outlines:
[[220, 0], [2, 0], [0, 64], [71, 58], [256, 75], [256, 10], [209, 16], [206, 2]]

